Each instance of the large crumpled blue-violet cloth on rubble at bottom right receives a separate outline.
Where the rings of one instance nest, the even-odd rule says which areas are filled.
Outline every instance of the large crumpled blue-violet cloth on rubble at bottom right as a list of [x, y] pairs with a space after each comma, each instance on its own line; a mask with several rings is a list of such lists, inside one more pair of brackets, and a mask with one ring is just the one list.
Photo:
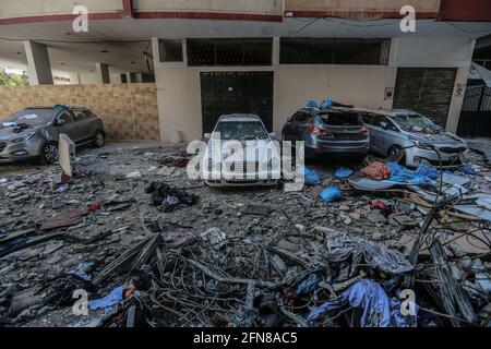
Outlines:
[[344, 291], [340, 297], [314, 309], [308, 316], [312, 324], [326, 312], [351, 306], [363, 310], [360, 325], [362, 327], [409, 327], [416, 326], [416, 317], [400, 314], [400, 302], [388, 298], [385, 290], [376, 282], [363, 279]]

